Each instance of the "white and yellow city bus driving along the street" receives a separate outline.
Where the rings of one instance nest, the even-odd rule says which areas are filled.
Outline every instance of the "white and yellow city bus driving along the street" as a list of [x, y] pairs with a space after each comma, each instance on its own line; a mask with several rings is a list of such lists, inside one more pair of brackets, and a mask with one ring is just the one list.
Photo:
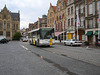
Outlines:
[[54, 45], [54, 28], [38, 28], [28, 32], [28, 42], [35, 46]]

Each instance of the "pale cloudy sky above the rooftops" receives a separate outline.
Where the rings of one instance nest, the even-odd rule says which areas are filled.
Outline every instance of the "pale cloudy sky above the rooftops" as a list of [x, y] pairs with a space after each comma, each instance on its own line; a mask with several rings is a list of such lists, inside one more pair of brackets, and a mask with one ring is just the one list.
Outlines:
[[5, 4], [11, 12], [20, 11], [20, 29], [28, 28], [29, 23], [34, 23], [47, 15], [50, 3], [56, 6], [57, 0], [0, 0], [0, 11]]

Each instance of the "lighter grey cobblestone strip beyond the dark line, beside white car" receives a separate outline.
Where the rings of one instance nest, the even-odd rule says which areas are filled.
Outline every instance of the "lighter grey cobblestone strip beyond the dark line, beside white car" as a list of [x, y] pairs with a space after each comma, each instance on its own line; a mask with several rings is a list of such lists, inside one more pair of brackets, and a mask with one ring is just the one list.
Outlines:
[[78, 46], [64, 46], [63, 43], [57, 43], [52, 48], [43, 48], [47, 51], [54, 52], [59, 55], [65, 55], [77, 60], [100, 66], [100, 49]]

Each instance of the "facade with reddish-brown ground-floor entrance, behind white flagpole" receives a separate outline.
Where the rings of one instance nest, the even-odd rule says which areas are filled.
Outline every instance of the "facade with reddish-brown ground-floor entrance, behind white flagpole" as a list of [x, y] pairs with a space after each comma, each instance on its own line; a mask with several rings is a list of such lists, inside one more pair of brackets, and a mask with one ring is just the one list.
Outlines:
[[[85, 41], [85, 0], [74, 0], [75, 4], [75, 38]], [[77, 13], [79, 14], [80, 25], [77, 25]], [[78, 27], [77, 27], [78, 26]], [[77, 32], [78, 29], [78, 32]]]

